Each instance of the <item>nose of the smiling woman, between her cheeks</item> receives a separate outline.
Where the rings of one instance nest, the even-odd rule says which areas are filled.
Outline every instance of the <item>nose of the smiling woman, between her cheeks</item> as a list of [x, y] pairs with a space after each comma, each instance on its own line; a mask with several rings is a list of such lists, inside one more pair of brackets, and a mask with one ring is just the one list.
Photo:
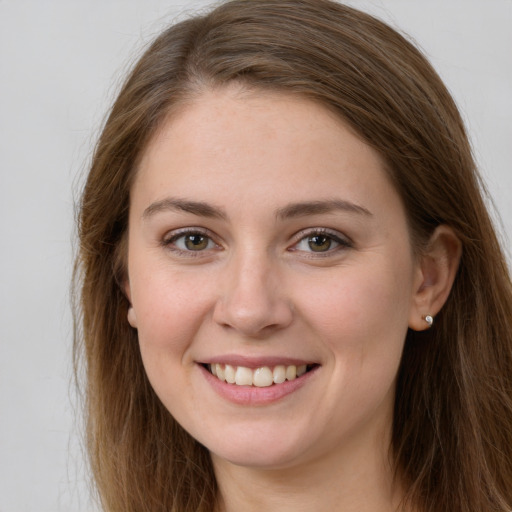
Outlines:
[[214, 321], [256, 339], [288, 327], [293, 307], [277, 266], [261, 253], [233, 258], [222, 275]]

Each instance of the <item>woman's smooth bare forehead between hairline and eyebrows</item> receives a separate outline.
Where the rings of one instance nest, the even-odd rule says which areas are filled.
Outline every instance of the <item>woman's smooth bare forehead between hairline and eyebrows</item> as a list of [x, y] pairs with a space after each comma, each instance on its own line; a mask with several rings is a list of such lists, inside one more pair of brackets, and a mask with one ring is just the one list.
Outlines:
[[168, 117], [133, 192], [145, 202], [178, 194], [226, 204], [236, 194], [274, 208], [337, 194], [397, 200], [380, 155], [328, 108], [235, 86], [205, 92]]

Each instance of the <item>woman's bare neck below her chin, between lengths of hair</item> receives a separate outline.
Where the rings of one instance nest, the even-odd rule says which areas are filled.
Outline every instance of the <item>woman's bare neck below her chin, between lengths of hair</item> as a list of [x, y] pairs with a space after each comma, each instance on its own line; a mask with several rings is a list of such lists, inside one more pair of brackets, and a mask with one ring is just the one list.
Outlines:
[[[363, 436], [363, 438], [366, 436]], [[395, 512], [402, 493], [394, 482], [388, 442], [366, 437], [316, 459], [280, 468], [236, 466], [212, 456], [217, 512]]]

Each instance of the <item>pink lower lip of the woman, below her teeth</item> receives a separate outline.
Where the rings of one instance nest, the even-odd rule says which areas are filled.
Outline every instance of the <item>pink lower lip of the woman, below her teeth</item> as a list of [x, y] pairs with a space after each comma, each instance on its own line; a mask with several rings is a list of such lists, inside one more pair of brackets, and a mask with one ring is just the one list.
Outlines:
[[287, 380], [282, 384], [258, 388], [256, 386], [229, 384], [213, 376], [204, 366], [198, 366], [217, 394], [238, 405], [267, 405], [277, 402], [307, 384], [319, 368], [316, 366], [304, 375], [294, 380]]

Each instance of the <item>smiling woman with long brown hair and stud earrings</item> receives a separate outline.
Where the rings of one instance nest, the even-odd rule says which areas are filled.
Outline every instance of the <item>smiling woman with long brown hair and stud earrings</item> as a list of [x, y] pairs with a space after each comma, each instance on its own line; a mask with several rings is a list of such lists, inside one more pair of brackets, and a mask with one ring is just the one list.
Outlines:
[[512, 507], [512, 295], [459, 113], [382, 22], [227, 2], [164, 32], [79, 216], [105, 510]]

